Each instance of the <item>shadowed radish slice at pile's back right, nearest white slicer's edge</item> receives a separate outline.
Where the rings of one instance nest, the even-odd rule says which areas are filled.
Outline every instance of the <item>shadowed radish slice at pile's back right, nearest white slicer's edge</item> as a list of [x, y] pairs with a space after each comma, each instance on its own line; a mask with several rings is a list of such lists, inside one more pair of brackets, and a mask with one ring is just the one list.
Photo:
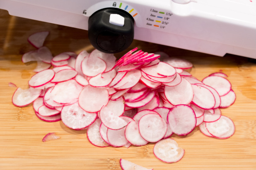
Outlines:
[[168, 59], [164, 59], [163, 61], [175, 68], [188, 69], [193, 67], [193, 64], [190, 61], [185, 59], [171, 57]]

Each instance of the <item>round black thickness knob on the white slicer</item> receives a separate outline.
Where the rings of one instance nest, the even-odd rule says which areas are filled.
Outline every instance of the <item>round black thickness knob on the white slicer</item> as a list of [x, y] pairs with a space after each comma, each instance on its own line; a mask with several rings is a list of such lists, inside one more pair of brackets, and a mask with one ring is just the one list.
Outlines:
[[[111, 14], [118, 14], [123, 17], [123, 26], [111, 24], [109, 22]], [[122, 52], [133, 42], [133, 17], [128, 12], [121, 9], [101, 9], [89, 17], [88, 37], [92, 45], [101, 52]]]

